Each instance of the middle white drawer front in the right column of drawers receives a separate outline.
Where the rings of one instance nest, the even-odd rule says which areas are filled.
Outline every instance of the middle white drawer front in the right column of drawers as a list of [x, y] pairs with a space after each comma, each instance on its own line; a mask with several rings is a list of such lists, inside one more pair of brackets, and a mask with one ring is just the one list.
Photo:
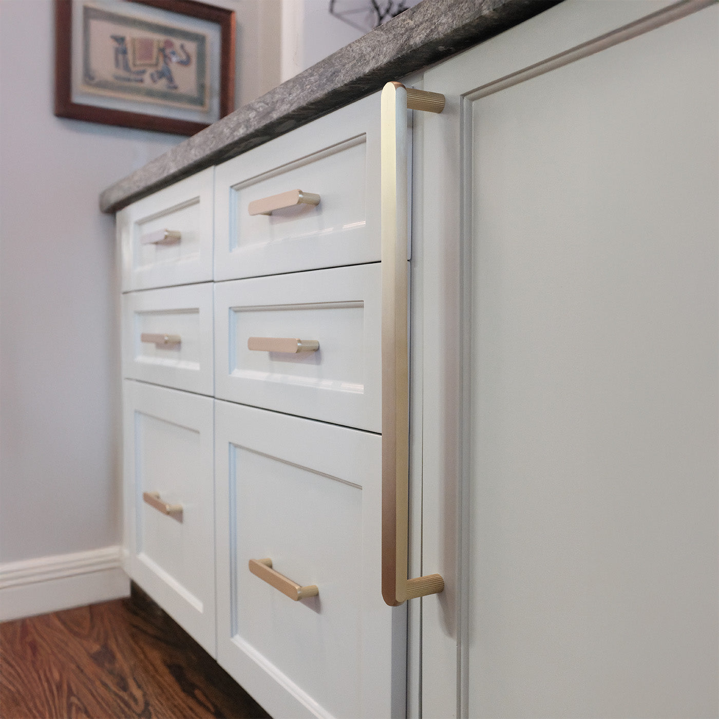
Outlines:
[[[382, 431], [380, 264], [215, 285], [217, 398]], [[248, 340], [319, 342], [316, 352]]]

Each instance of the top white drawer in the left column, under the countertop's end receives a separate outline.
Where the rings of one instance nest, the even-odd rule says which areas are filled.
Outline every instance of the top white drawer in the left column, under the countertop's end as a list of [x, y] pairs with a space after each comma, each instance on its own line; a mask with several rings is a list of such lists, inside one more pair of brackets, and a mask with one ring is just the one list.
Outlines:
[[212, 279], [213, 183], [208, 168], [117, 214], [124, 292]]

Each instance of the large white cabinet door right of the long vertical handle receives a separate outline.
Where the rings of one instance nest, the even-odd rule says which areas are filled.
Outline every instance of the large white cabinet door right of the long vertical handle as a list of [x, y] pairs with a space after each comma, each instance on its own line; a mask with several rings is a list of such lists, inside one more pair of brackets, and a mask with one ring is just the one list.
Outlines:
[[[462, 95], [426, 122], [425, 160], [465, 200], [472, 717], [701, 716], [719, 700], [717, 8], [495, 88], [510, 73], [485, 75], [487, 53], [562, 50], [538, 32], [549, 17], [575, 28], [568, 50], [612, 5], [561, 4], [425, 79]], [[461, 151], [431, 162], [448, 127]], [[431, 531], [435, 481], [425, 467]], [[446, 605], [423, 607], [423, 709], [446, 716], [429, 711], [432, 643], [457, 638]]]

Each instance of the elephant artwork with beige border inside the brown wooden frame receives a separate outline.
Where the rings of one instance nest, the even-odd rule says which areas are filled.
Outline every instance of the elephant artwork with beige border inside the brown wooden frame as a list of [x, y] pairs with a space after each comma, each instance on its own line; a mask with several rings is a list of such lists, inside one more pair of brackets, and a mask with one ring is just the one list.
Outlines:
[[206, 109], [208, 38], [83, 6], [83, 91]]

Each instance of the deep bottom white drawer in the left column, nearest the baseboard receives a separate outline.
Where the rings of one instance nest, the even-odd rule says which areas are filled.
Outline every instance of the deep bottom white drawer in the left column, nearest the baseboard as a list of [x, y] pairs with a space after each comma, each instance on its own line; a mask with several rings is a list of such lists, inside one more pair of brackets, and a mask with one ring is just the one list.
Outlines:
[[[214, 655], [213, 401], [124, 382], [129, 574]], [[162, 513], [145, 493], [182, 512]]]

